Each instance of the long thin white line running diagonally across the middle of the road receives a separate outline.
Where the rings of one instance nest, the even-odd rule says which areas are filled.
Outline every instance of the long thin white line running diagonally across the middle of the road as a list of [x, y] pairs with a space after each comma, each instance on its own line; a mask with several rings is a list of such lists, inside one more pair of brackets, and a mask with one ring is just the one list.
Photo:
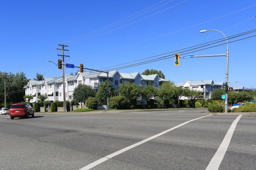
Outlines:
[[[207, 116], [210, 116], [210, 115], [207, 115]], [[189, 122], [192, 122], [192, 121], [195, 121], [195, 120], [198, 120], [198, 119], [207, 117], [207, 116], [198, 117], [197, 119], [193, 119], [193, 120], [184, 122], [184, 123], [182, 123], [182, 124], [180, 124], [180, 125], [178, 125], [178, 126], [175, 126], [175, 127], [171, 128], [171, 129], [165, 130], [164, 132], [158, 133], [157, 135], [154, 135], [154, 136], [152, 136], [152, 137], [149, 137], [148, 139], [145, 139], [145, 140], [140, 141], [140, 142], [138, 142], [138, 143], [132, 144], [131, 146], [128, 146], [128, 147], [126, 147], [126, 148], [123, 148], [123, 149], [121, 149], [121, 150], [119, 150], [119, 151], [117, 151], [117, 152], [114, 152], [113, 154], [110, 154], [110, 155], [108, 155], [108, 156], [105, 156], [105, 157], [99, 159], [98, 161], [95, 161], [95, 162], [93, 162], [93, 163], [91, 163], [91, 164], [89, 164], [89, 165], [87, 165], [87, 166], [81, 168], [80, 170], [89, 170], [89, 169], [93, 168], [94, 166], [99, 165], [99, 164], [103, 163], [104, 161], [107, 161], [108, 159], [110, 159], [110, 158], [112, 158], [112, 157], [114, 157], [114, 156], [116, 156], [116, 155], [119, 155], [119, 154], [121, 154], [121, 153], [123, 153], [123, 152], [125, 152], [125, 151], [127, 151], [127, 150], [130, 150], [130, 149], [132, 149], [132, 148], [134, 148], [134, 147], [136, 147], [136, 146], [139, 146], [140, 144], [143, 144], [143, 143], [145, 143], [145, 142], [147, 142], [147, 141], [150, 141], [151, 139], [154, 139], [154, 138], [156, 138], [156, 137], [159, 137], [159, 136], [161, 136], [161, 135], [163, 135], [163, 134], [165, 134], [165, 133], [167, 133], [167, 132], [170, 132], [170, 131], [172, 131], [172, 130], [174, 130], [174, 129], [180, 127], [180, 126], [183, 126], [183, 125], [185, 125], [185, 124], [187, 124], [187, 123], [189, 123]]]

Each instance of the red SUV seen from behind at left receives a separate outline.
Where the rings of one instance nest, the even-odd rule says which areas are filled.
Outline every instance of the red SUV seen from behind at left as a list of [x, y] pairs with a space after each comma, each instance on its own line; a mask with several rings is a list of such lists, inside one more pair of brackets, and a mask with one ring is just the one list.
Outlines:
[[34, 110], [27, 103], [12, 104], [9, 112], [10, 112], [9, 115], [10, 115], [11, 119], [14, 119], [15, 117], [29, 118], [30, 115], [32, 117], [34, 117]]

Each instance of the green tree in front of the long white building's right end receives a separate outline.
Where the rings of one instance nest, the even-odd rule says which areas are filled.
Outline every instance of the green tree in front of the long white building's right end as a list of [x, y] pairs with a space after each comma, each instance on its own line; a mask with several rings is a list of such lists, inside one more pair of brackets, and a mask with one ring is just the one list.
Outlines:
[[158, 91], [158, 101], [163, 101], [164, 107], [167, 108], [170, 104], [170, 101], [174, 99], [173, 88], [174, 82], [167, 81], [163, 82]]

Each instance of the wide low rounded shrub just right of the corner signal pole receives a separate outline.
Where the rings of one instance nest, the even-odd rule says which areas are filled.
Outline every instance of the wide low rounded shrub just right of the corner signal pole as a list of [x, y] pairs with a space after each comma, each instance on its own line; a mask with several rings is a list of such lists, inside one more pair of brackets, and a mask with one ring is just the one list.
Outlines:
[[113, 109], [126, 109], [129, 103], [127, 99], [123, 96], [115, 96], [109, 99], [109, 108]]

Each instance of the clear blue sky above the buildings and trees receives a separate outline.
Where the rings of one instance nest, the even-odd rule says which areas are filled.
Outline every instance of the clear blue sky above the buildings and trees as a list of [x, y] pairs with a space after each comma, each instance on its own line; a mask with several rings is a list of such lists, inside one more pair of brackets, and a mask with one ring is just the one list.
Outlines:
[[[119, 64], [164, 53], [174, 56], [176, 50], [183, 54], [183, 48], [224, 38], [216, 31], [200, 30], [215, 29], [230, 37], [256, 29], [255, 11], [255, 0], [2, 0], [0, 71], [23, 71], [28, 79], [35, 78], [36, 72], [61, 77], [62, 71], [47, 62], [57, 63], [57, 55], [62, 53], [56, 48], [61, 48], [61, 43], [69, 46], [65, 48], [69, 50], [65, 55], [70, 55], [66, 63], [82, 63], [92, 69], [112, 70]], [[232, 86], [256, 88], [256, 37], [231, 43], [253, 35], [256, 32], [228, 40]], [[186, 55], [224, 53], [226, 44]], [[150, 59], [154, 58], [158, 57]], [[226, 57], [180, 59], [179, 66], [174, 66], [174, 58], [164, 57], [118, 70], [142, 73], [145, 69], [161, 70], [174, 82], [224, 82]], [[65, 68], [66, 74], [76, 71]]]

